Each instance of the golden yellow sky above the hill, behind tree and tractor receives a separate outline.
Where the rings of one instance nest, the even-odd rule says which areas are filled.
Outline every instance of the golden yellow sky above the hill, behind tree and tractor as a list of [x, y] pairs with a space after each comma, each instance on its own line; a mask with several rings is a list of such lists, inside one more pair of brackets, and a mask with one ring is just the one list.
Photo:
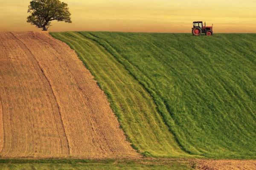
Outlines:
[[[30, 0], [0, 0], [0, 31], [40, 30], [26, 23]], [[61, 0], [73, 23], [49, 31], [191, 32], [206, 21], [214, 32], [256, 33], [256, 0]]]

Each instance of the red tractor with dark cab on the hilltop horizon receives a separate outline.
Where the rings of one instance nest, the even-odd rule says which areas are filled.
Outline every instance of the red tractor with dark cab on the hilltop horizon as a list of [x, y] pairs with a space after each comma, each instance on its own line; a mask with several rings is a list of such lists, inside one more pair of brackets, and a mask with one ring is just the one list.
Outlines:
[[201, 34], [211, 36], [213, 34], [212, 26], [206, 26], [205, 22], [203, 24], [202, 21], [195, 21], [193, 22], [192, 34], [195, 36], [198, 36]]

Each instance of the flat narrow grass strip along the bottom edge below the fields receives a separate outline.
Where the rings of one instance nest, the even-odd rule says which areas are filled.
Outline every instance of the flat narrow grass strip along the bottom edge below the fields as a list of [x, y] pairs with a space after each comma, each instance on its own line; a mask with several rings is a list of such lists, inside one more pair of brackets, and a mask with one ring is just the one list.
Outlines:
[[1, 170], [193, 170], [187, 161], [133, 160], [0, 160]]

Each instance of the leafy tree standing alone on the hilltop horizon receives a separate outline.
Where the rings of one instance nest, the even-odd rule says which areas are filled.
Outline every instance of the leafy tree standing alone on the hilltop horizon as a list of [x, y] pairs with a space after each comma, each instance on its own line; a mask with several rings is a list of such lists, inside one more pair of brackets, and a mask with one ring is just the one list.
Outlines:
[[27, 22], [47, 31], [52, 20], [71, 23], [67, 3], [60, 0], [32, 0], [29, 5]]

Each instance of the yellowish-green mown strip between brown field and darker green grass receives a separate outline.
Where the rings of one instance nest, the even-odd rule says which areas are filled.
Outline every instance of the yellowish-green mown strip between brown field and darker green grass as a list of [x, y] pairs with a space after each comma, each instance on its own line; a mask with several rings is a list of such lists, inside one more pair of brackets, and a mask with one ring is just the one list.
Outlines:
[[69, 43], [96, 77], [135, 149], [144, 156], [186, 155], [158, 114], [151, 96], [105, 48], [79, 33], [52, 35]]

